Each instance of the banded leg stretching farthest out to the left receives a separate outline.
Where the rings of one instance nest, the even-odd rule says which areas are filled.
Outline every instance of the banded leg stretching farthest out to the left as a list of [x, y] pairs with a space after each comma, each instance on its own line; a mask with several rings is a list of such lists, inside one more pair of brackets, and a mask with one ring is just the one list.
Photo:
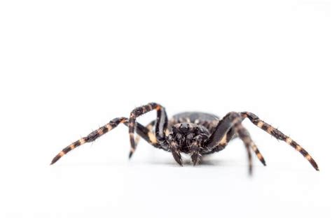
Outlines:
[[[101, 128], [99, 128], [95, 131], [92, 131], [92, 133], [90, 133], [85, 138], [81, 138], [80, 140], [73, 142], [68, 147], [65, 147], [64, 149], [62, 149], [62, 151], [59, 154], [57, 154], [57, 156], [54, 157], [54, 159], [52, 160], [52, 162], [50, 164], [52, 165], [53, 163], [57, 162], [62, 156], [64, 156], [64, 154], [67, 154], [68, 152], [75, 149], [76, 147], [81, 146], [81, 145], [85, 144], [86, 142], [93, 142], [94, 140], [101, 137], [105, 133], [111, 131], [112, 129], [115, 129], [116, 126], [118, 126], [118, 124], [125, 124], [126, 126], [128, 126], [128, 119], [126, 117], [118, 117], [116, 119], [111, 120], [111, 122], [109, 122], [108, 124], [102, 126]], [[160, 148], [160, 145], [158, 145], [156, 143], [156, 138], [154, 137], [154, 135], [150, 131], [148, 131], [148, 129], [146, 129], [143, 125], [141, 125], [139, 123], [137, 123], [137, 134], [139, 136], [141, 136], [142, 138], [144, 138], [144, 140], [146, 140], [148, 143], [150, 143], [154, 147]]]

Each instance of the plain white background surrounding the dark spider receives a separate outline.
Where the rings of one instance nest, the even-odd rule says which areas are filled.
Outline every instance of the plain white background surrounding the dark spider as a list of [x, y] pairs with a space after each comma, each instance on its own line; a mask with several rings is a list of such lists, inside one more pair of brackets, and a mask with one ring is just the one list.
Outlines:
[[[331, 218], [331, 1], [1, 1], [1, 219]], [[148, 102], [171, 116], [251, 111], [307, 149], [244, 122], [179, 167], [123, 125], [53, 156]], [[155, 112], [139, 119], [147, 123]]]

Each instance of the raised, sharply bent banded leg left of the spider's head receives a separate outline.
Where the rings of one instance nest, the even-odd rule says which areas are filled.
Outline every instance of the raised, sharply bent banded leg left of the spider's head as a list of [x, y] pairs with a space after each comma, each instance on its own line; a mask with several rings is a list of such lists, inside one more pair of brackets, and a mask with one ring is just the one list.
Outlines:
[[135, 108], [130, 113], [128, 127], [131, 148], [129, 158], [132, 157], [132, 154], [134, 154], [134, 151], [136, 149], [136, 143], [134, 138], [136, 119], [137, 117], [144, 115], [147, 112], [151, 112], [152, 110], [157, 110], [157, 120], [155, 121], [155, 138], [157, 138], [156, 144], [162, 146], [165, 149], [167, 148], [166, 146], [164, 146], [165, 130], [167, 129], [167, 115], [165, 112], [165, 108], [163, 108], [162, 105], [159, 105], [157, 103], [148, 103], [147, 105], [142, 105], [139, 108]]

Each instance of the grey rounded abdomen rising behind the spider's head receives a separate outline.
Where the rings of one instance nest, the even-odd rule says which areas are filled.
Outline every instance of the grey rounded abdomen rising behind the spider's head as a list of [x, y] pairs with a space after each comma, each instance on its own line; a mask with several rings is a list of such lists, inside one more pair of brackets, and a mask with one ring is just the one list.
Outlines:
[[174, 115], [169, 121], [169, 127], [179, 123], [193, 123], [204, 126], [210, 133], [214, 131], [219, 117], [205, 112], [181, 112]]

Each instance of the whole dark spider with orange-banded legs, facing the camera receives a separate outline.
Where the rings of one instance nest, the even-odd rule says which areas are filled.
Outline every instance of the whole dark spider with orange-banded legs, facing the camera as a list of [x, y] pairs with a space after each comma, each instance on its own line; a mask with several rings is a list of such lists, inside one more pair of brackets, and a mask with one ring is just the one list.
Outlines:
[[[148, 124], [148, 126], [143, 126], [136, 122], [137, 117], [152, 110], [157, 111], [157, 119]], [[197, 165], [200, 163], [202, 156], [223, 150], [230, 140], [238, 137], [244, 142], [247, 149], [249, 173], [251, 173], [251, 150], [255, 152], [264, 166], [265, 160], [255, 143], [251, 140], [247, 129], [244, 129], [244, 126], [242, 126], [242, 121], [246, 118], [273, 137], [291, 145], [291, 147], [300, 152], [316, 170], [319, 170], [317, 163], [303, 147], [279, 130], [270, 126], [270, 124], [263, 122], [253, 113], [229, 112], [223, 119], [219, 119], [219, 117], [215, 115], [202, 112], [183, 112], [174, 115], [172, 119], [168, 120], [165, 108], [158, 103], [148, 103], [147, 105], [135, 108], [132, 110], [129, 119], [126, 117], [118, 117], [111, 120], [111, 122], [105, 126], [102, 126], [96, 131], [92, 131], [92, 133], [85, 138], [81, 138], [62, 149], [62, 151], [55, 156], [51, 164], [55, 163], [72, 149], [83, 145], [85, 142], [96, 140], [122, 123], [129, 127], [131, 145], [129, 157], [132, 156], [137, 146], [137, 141], [135, 141], [134, 138], [135, 131], [137, 135], [144, 138], [144, 140], [153, 145], [153, 147], [172, 152], [175, 161], [181, 166], [181, 153], [190, 154], [193, 165]]]

